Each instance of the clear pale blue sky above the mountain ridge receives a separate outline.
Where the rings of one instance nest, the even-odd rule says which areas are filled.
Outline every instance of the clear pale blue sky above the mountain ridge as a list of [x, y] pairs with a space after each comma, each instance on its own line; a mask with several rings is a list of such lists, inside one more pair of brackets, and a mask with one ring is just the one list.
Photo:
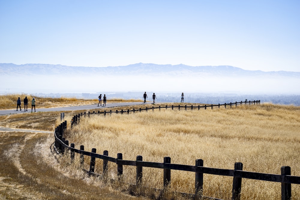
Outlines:
[[300, 1], [0, 0], [0, 63], [300, 71]]

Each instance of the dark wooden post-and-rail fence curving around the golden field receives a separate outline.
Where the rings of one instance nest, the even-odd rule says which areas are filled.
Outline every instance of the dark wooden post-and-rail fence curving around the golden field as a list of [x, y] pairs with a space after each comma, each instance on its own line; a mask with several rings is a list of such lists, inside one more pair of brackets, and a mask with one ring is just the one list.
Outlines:
[[[242, 102], [241, 102], [242, 103]], [[248, 102], [247, 102], [248, 103]], [[250, 102], [251, 103], [251, 102]], [[253, 101], [252, 103], [260, 103], [260, 101]], [[235, 102], [235, 105], [238, 103]], [[232, 106], [232, 103], [227, 104]], [[221, 106], [219, 105], [211, 105], [211, 109], [214, 106]], [[222, 104], [222, 106], [226, 106], [226, 104]], [[171, 108], [174, 108], [175, 106], [170, 106]], [[168, 106], [166, 107], [161, 107], [159, 106], [158, 108], [170, 108]], [[176, 106], [179, 109], [181, 106]], [[196, 108], [204, 107], [206, 108], [207, 106], [198, 106]], [[209, 106], [210, 107], [210, 106]], [[185, 109], [191, 108], [193, 109], [193, 106], [184, 106]], [[155, 109], [152, 107], [152, 110]], [[141, 112], [141, 110], [148, 110], [146, 109], [139, 109], [137, 110], [138, 112]], [[123, 113], [124, 111], [122, 110], [121, 112], [116, 111], [115, 113]], [[125, 111], [126, 112], [126, 111]], [[135, 112], [135, 110], [127, 110], [127, 113], [129, 112]], [[100, 114], [101, 112], [93, 112], [93, 114]], [[107, 112], [102, 112], [104, 115], [106, 115]], [[109, 113], [112, 113], [110, 111]], [[90, 115], [91, 113], [88, 113]], [[86, 116], [86, 113], [83, 114]], [[80, 116], [82, 114], [75, 115], [71, 121], [71, 126], [79, 123], [80, 121]], [[195, 161], [194, 166], [190, 165], [181, 165], [181, 164], [173, 164], [171, 163], [171, 158], [170, 157], [164, 157], [163, 163], [155, 163], [155, 162], [147, 162], [143, 161], [142, 156], [137, 156], [136, 160], [123, 160], [122, 154], [118, 153], [117, 157], [109, 157], [108, 156], [108, 151], [104, 151], [103, 154], [97, 154], [96, 149], [92, 148], [91, 152], [85, 151], [84, 146], [81, 145], [80, 149], [75, 148], [75, 144], [71, 143], [69, 146], [69, 141], [66, 140], [63, 137], [64, 130], [67, 128], [67, 121], [64, 121], [61, 123], [58, 127], [55, 128], [55, 148], [58, 153], [70, 153], [70, 162], [72, 163], [75, 158], [75, 153], [79, 154], [80, 156], [80, 165], [83, 167], [84, 163], [84, 156], [89, 156], [90, 157], [90, 167], [89, 170], [83, 169], [85, 172], [87, 172], [89, 175], [96, 175], [96, 176], [106, 176], [107, 172], [107, 166], [108, 162], [115, 163], [116, 169], [117, 169], [117, 175], [118, 178], [122, 177], [123, 175], [123, 166], [136, 166], [136, 184], [132, 185], [134, 187], [141, 187], [141, 183], [143, 182], [143, 167], [151, 167], [151, 168], [159, 168], [164, 170], [164, 184], [163, 188], [161, 190], [161, 193], [163, 193], [168, 187], [169, 184], [171, 183], [171, 170], [182, 170], [182, 171], [188, 171], [188, 172], [194, 172], [195, 173], [195, 193], [194, 194], [188, 194], [188, 193], [179, 193], [182, 196], [186, 196], [189, 198], [193, 199], [215, 199], [211, 197], [206, 197], [203, 196], [203, 174], [212, 174], [212, 175], [220, 175], [220, 176], [231, 176], [233, 177], [232, 181], [232, 200], [239, 200], [240, 199], [240, 192], [241, 192], [241, 181], [242, 178], [247, 178], [247, 179], [255, 179], [255, 180], [261, 180], [261, 181], [272, 181], [272, 182], [279, 182], [281, 183], [281, 199], [291, 199], [291, 185], [292, 184], [300, 184], [300, 177], [298, 176], [291, 176], [291, 168], [289, 166], [282, 166], [281, 167], [281, 174], [276, 175], [276, 174], [264, 174], [264, 173], [258, 173], [258, 172], [247, 172], [243, 171], [243, 164], [242, 163], [235, 163], [234, 169], [216, 169], [216, 168], [208, 168], [208, 167], [203, 167], [203, 160], [197, 159]], [[95, 162], [96, 158], [102, 159], [103, 160], [103, 171], [100, 174], [97, 174], [94, 172], [95, 170]], [[154, 188], [153, 188], [154, 189]], [[155, 189], [159, 190], [159, 189]]]

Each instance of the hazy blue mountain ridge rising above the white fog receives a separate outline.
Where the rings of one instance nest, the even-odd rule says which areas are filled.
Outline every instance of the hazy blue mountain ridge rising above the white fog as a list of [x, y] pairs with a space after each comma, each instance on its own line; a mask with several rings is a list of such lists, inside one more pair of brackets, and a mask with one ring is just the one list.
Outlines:
[[159, 65], [159, 64], [130, 64], [117, 67], [72, 67], [53, 64], [22, 64], [0, 63], [0, 74], [32, 74], [32, 75], [57, 75], [57, 74], [107, 74], [107, 75], [171, 75], [171, 76], [288, 76], [300, 77], [300, 72], [243, 70], [232, 66], [188, 66], [179, 65]]

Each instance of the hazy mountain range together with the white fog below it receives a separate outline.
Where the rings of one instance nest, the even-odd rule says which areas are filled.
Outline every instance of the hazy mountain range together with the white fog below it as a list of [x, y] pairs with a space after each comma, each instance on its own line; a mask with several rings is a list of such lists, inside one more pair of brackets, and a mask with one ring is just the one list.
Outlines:
[[2, 93], [162, 91], [179, 94], [300, 94], [300, 72], [263, 72], [232, 66], [137, 63], [117, 67], [72, 67], [0, 63], [0, 76]]

